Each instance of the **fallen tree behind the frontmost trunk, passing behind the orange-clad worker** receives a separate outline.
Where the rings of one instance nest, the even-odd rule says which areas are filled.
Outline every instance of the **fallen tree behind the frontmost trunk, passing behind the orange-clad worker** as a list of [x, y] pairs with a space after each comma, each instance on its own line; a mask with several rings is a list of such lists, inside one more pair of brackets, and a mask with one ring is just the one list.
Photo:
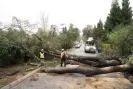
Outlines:
[[[60, 58], [59, 55], [45, 52], [48, 55]], [[69, 61], [71, 60], [71, 61]], [[73, 61], [73, 62], [72, 62]], [[67, 64], [78, 64], [83, 63], [86, 65], [94, 66], [94, 67], [107, 67], [107, 66], [116, 66], [121, 64], [121, 60], [118, 57], [84, 57], [77, 55], [68, 55], [67, 56]]]

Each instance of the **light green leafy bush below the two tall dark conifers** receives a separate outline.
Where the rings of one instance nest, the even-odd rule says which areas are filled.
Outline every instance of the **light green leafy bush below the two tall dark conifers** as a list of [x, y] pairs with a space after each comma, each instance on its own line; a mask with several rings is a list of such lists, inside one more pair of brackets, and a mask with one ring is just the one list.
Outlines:
[[109, 35], [109, 41], [112, 46], [117, 48], [120, 56], [128, 56], [132, 54], [133, 49], [133, 27], [119, 26]]

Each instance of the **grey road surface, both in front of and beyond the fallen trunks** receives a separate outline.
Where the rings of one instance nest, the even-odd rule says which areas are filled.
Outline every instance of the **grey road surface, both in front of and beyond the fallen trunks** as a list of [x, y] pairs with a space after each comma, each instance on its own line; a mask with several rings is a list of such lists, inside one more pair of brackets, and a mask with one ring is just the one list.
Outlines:
[[[72, 49], [68, 54], [98, 56], [98, 53], [85, 53], [84, 44], [80, 48]], [[80, 74], [36, 73], [11, 89], [133, 89], [133, 84], [119, 72], [94, 77]]]

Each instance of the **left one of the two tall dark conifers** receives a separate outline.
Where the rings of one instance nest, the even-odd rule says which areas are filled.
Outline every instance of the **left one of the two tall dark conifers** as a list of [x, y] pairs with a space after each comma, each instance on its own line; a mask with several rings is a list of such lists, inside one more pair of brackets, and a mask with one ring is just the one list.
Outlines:
[[111, 32], [113, 28], [121, 24], [121, 21], [121, 9], [118, 0], [113, 0], [110, 14], [107, 17], [104, 27], [108, 32]]

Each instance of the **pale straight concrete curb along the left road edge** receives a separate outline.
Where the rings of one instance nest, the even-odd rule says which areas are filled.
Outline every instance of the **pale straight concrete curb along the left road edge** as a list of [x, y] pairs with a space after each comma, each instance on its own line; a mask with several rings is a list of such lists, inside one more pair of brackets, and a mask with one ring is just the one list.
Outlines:
[[2, 87], [1, 89], [11, 89], [13, 86], [15, 86], [15, 85], [17, 85], [18, 83], [24, 81], [25, 79], [27, 79], [28, 77], [30, 77], [30, 76], [33, 75], [34, 73], [38, 72], [40, 69], [41, 69], [41, 67], [39, 67], [39, 68], [37, 68], [37, 69], [31, 71], [31, 72], [28, 73], [27, 75], [25, 75], [25, 76], [23, 76], [23, 77], [21, 77], [21, 78], [15, 80], [15, 81], [11, 82], [10, 84], [8, 84], [8, 85]]

